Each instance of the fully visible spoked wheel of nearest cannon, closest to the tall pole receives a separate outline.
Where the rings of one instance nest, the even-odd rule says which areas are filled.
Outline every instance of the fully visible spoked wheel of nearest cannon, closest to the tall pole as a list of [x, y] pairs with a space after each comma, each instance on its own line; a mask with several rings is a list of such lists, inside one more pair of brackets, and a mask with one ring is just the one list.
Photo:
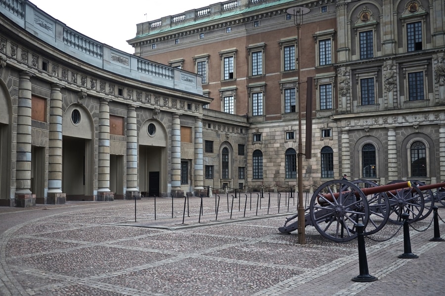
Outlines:
[[[324, 194], [339, 191], [337, 198], [325, 198]], [[324, 237], [347, 242], [357, 237], [356, 225], [366, 226], [369, 207], [364, 193], [356, 185], [345, 180], [331, 180], [320, 185], [312, 195], [309, 206], [312, 225]]]

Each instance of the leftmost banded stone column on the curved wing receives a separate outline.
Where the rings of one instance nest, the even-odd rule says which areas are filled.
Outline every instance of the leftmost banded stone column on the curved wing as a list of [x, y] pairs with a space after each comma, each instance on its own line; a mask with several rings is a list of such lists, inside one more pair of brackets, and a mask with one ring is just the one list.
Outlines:
[[15, 205], [36, 205], [36, 195], [31, 192], [31, 73], [21, 72], [17, 108], [17, 148], [15, 170]]

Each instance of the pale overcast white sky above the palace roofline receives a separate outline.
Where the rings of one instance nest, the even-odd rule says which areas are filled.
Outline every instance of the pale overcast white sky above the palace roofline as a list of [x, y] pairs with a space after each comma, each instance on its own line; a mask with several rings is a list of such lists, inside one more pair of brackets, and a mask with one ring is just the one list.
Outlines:
[[30, 0], [37, 7], [90, 38], [128, 53], [136, 24], [197, 9], [221, 0]]

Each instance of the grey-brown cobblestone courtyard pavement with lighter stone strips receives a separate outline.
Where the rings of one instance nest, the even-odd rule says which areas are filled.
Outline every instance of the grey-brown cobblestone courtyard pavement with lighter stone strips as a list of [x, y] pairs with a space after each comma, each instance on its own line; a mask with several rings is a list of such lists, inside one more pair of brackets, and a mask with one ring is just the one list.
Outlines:
[[293, 199], [288, 205], [275, 194], [270, 207], [268, 196], [231, 200], [203, 198], [200, 215], [200, 198], [157, 198], [156, 220], [153, 198], [0, 207], [0, 295], [444, 294], [445, 242], [429, 241], [433, 215], [414, 223], [425, 231], [410, 228], [418, 259], [398, 258], [400, 225], [365, 239], [369, 274], [378, 280], [362, 283], [352, 281], [360, 273], [356, 240], [332, 242], [312, 226], [306, 244], [279, 234], [296, 212]]

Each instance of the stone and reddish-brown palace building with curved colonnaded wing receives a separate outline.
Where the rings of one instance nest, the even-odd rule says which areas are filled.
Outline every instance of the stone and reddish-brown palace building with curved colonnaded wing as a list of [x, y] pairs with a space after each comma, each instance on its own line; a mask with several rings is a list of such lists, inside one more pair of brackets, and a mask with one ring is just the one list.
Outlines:
[[0, 206], [295, 188], [299, 132], [307, 191], [443, 181], [444, 6], [229, 0], [131, 55], [0, 0]]

